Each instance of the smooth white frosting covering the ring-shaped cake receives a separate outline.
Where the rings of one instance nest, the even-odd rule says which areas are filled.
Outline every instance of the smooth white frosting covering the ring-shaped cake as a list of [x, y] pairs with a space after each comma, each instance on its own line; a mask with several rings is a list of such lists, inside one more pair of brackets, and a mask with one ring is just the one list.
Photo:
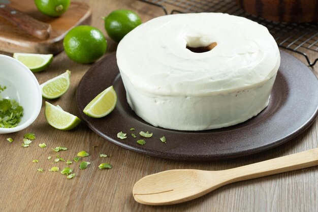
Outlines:
[[[213, 42], [204, 53], [186, 48]], [[266, 27], [221, 13], [154, 18], [126, 35], [116, 56], [136, 114], [177, 130], [226, 127], [257, 115], [280, 63]]]

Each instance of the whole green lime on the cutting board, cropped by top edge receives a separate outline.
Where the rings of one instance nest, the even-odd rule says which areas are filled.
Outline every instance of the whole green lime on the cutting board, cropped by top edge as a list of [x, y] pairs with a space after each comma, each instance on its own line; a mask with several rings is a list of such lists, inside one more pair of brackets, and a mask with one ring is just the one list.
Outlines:
[[69, 9], [71, 0], [34, 0], [34, 2], [44, 15], [58, 17]]

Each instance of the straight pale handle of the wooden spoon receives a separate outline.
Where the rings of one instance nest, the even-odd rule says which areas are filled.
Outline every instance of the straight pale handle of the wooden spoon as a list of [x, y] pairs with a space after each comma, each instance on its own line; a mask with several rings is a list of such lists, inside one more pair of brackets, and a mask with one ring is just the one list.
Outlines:
[[274, 158], [259, 163], [249, 164], [233, 169], [228, 169], [228, 183], [246, 179], [258, 178], [297, 169], [318, 165], [318, 148], [305, 152]]

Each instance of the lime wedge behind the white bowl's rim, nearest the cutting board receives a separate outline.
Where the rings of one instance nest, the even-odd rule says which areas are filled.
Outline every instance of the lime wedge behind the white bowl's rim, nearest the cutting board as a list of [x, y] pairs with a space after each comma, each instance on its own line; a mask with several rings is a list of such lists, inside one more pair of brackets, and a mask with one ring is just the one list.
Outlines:
[[53, 60], [53, 54], [14, 53], [13, 57], [23, 63], [32, 72], [43, 71]]

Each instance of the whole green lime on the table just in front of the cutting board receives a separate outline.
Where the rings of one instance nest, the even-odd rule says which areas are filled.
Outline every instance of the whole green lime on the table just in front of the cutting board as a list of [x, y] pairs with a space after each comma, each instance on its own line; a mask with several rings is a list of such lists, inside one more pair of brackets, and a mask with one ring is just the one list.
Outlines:
[[106, 52], [107, 41], [103, 33], [92, 26], [82, 25], [71, 29], [63, 40], [70, 59], [77, 63], [92, 63]]

